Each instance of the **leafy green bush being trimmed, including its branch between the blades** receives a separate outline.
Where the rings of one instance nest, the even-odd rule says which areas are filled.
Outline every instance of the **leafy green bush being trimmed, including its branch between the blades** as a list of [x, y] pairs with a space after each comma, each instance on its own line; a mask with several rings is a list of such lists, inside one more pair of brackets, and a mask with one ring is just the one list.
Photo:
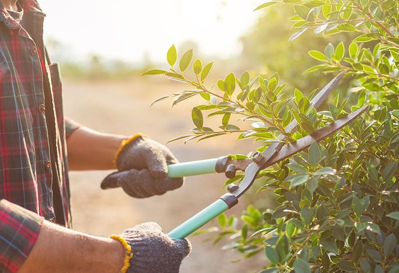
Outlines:
[[[175, 140], [237, 133], [238, 139], [252, 138], [264, 151], [270, 143], [281, 141], [276, 140], [278, 134], [292, 142], [347, 115], [348, 107], [353, 111], [367, 103], [369, 110], [337, 134], [313, 143], [307, 152], [259, 173], [259, 191], [276, 197], [273, 209], [248, 205], [240, 218], [222, 214], [218, 227], [202, 233], [214, 234], [214, 243], [228, 236], [232, 242], [223, 248], [247, 258], [265, 255], [270, 264], [262, 272], [398, 272], [398, 1], [283, 0], [256, 9], [277, 4], [291, 6], [295, 12], [292, 44], [310, 31], [325, 37], [324, 49], [309, 51], [319, 63], [308, 72], [346, 70], [349, 91], [358, 98], [356, 105], [347, 106], [348, 98], [337, 95], [328, 110], [316, 112], [309, 102], [315, 92], [309, 97], [298, 89], [285, 93], [286, 84], [277, 73], [270, 77], [230, 73], [212, 90], [204, 85], [212, 63], [201, 71], [196, 61], [193, 80], [183, 74], [191, 64], [189, 52], [180, 62], [182, 73], [171, 63], [171, 72], [149, 72], [194, 87], [168, 96], [174, 97], [174, 104], [195, 95], [204, 100], [192, 111], [196, 126], [192, 134]], [[353, 39], [329, 39], [342, 32], [351, 33]], [[219, 129], [204, 127], [204, 117], [214, 115], [220, 116]], [[238, 117], [239, 127], [231, 123], [232, 115]], [[296, 131], [285, 132], [293, 119], [298, 122]], [[226, 184], [240, 179], [238, 173]]]

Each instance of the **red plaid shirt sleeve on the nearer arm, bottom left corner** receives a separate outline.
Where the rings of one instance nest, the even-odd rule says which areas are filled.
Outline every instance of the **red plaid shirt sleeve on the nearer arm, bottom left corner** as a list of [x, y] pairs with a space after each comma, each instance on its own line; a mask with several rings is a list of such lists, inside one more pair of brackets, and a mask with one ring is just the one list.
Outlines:
[[5, 199], [0, 201], [0, 272], [17, 272], [36, 242], [43, 219]]

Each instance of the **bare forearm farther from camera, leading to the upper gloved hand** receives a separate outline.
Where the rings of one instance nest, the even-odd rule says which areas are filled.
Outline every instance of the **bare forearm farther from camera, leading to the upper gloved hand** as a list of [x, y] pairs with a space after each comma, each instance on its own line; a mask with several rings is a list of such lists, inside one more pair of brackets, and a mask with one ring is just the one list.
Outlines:
[[67, 139], [69, 170], [110, 170], [122, 140], [127, 136], [104, 134], [87, 127], [76, 129]]

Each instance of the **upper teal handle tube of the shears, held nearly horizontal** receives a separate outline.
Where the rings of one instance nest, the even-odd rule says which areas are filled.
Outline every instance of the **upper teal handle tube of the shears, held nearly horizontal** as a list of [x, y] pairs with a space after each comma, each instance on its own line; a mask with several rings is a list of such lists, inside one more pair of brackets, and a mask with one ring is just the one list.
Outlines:
[[168, 177], [188, 177], [216, 173], [218, 158], [204, 159], [168, 165]]

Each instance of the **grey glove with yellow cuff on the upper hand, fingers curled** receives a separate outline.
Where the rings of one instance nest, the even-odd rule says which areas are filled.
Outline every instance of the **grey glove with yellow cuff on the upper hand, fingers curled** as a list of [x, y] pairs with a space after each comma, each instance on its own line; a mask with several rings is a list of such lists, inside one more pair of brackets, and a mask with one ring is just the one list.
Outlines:
[[183, 185], [183, 178], [168, 178], [168, 164], [179, 163], [164, 145], [141, 134], [125, 141], [116, 154], [119, 171], [130, 170], [118, 185], [130, 196], [146, 198], [162, 195]]

